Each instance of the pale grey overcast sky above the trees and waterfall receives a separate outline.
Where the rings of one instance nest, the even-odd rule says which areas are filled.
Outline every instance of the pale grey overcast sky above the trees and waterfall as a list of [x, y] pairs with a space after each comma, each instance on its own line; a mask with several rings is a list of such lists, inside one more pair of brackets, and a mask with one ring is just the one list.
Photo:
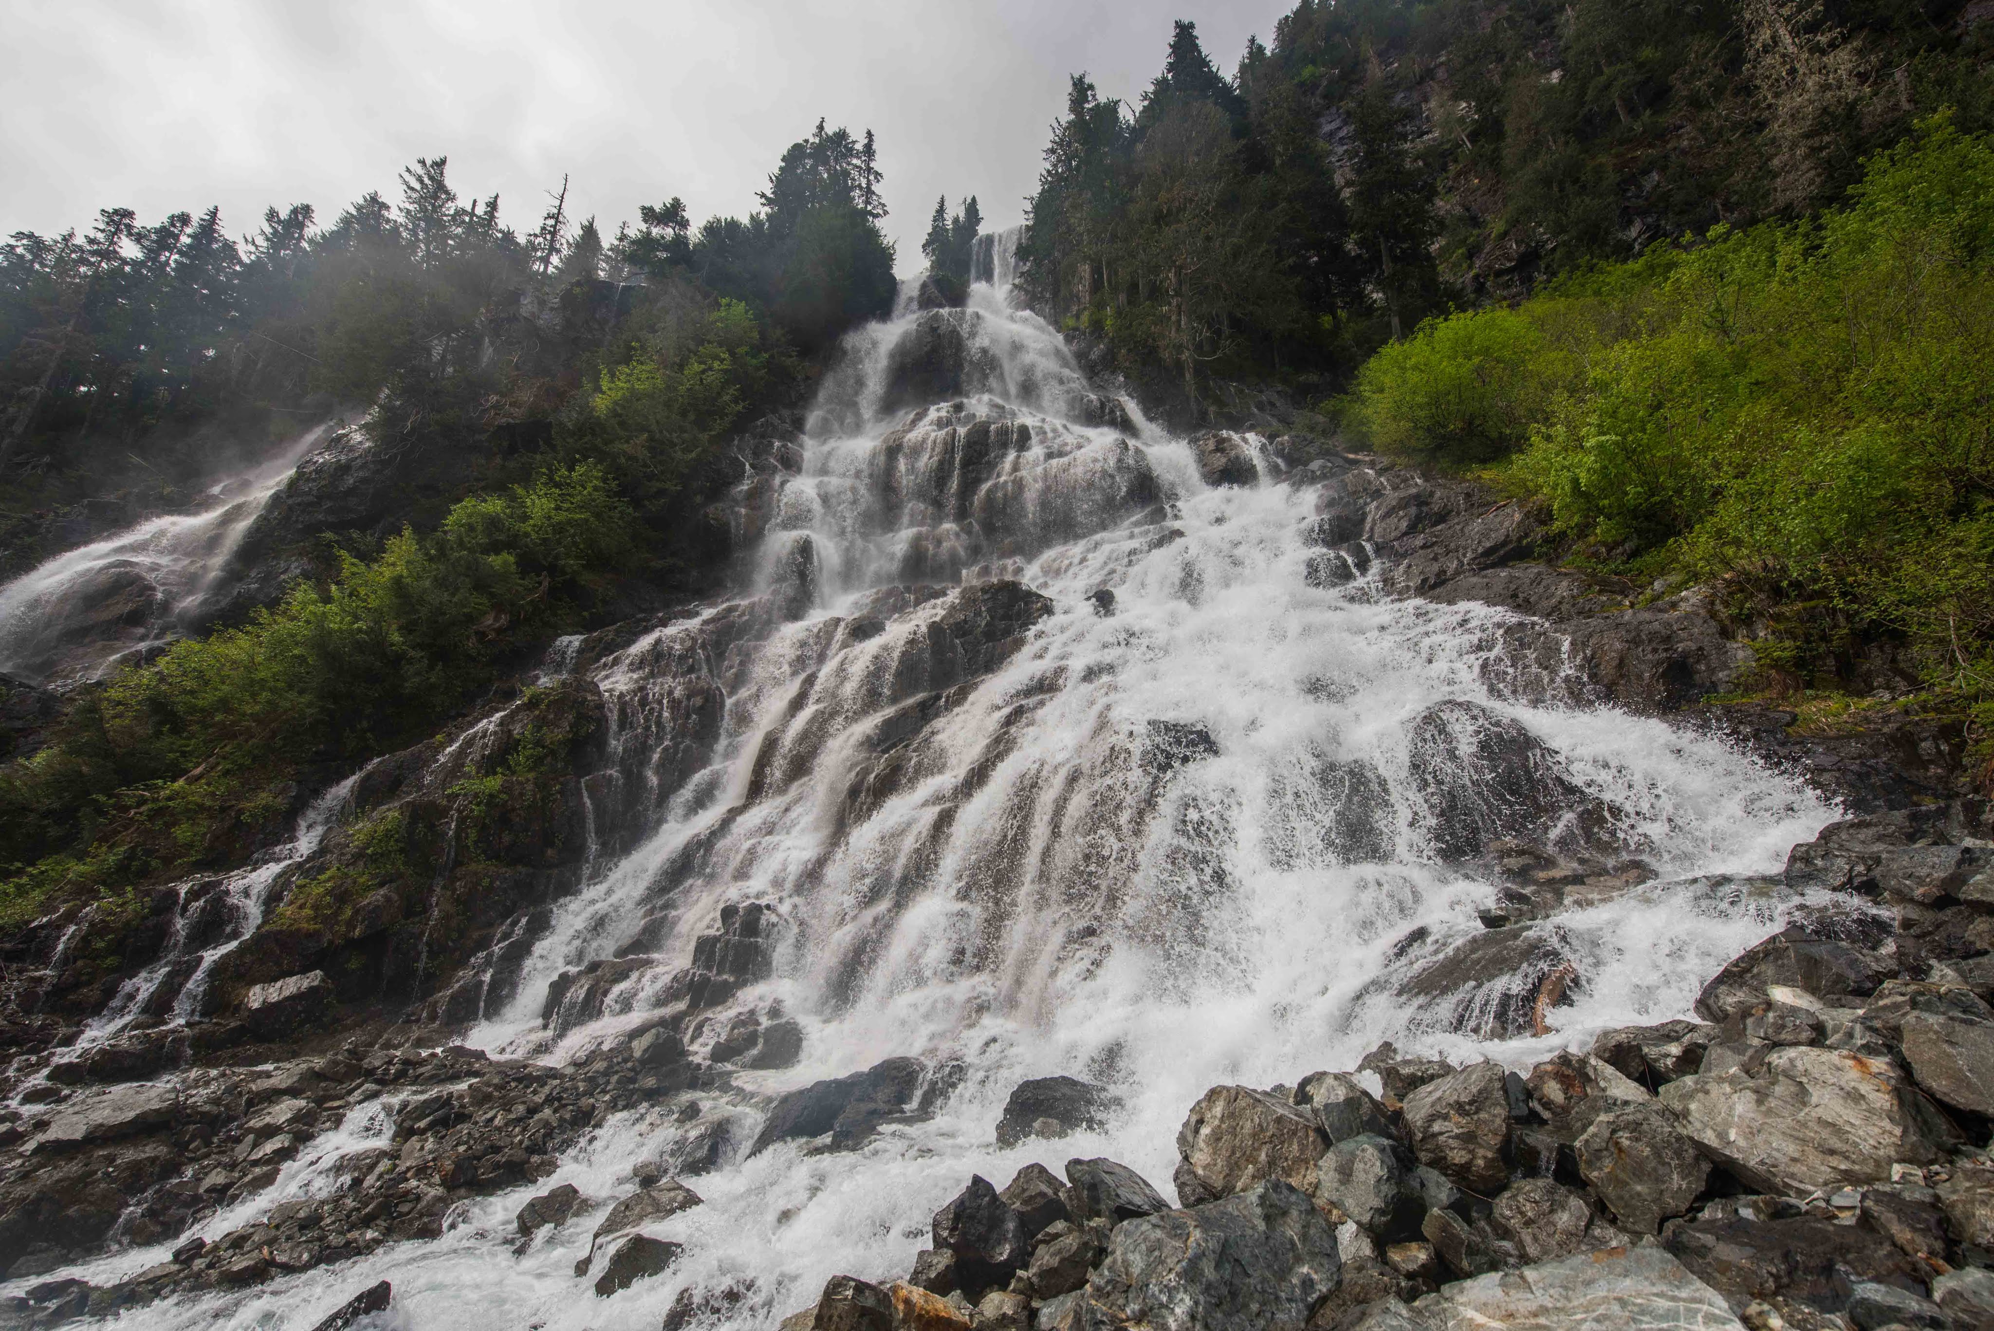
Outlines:
[[1190, 18], [1232, 74], [1280, 0], [0, 0], [0, 233], [209, 204], [319, 223], [449, 154], [463, 196], [530, 229], [570, 176], [612, 233], [638, 204], [746, 214], [820, 116], [879, 136], [887, 233], [919, 267], [937, 194], [1019, 222], [1067, 76], [1135, 98]]

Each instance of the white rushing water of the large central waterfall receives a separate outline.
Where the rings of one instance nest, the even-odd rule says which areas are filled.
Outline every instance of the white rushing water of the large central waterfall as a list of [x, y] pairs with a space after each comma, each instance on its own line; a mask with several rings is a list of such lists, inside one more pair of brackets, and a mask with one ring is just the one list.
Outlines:
[[[963, 335], [953, 405], [897, 403], [895, 379], [937, 329]], [[391, 1279], [387, 1325], [423, 1331], [654, 1331], [680, 1291], [728, 1287], [746, 1293], [698, 1325], [774, 1327], [833, 1273], [903, 1275], [929, 1213], [971, 1173], [1003, 1185], [1029, 1161], [1111, 1155], [1168, 1189], [1176, 1127], [1214, 1084], [1352, 1068], [1386, 1038], [1523, 1062], [1603, 1026], [1683, 1016], [1791, 904], [1713, 876], [1775, 870], [1834, 816], [1715, 740], [1503, 686], [1490, 668], [1513, 623], [1501, 611], [1394, 601], [1374, 577], [1312, 585], [1312, 487], [1206, 487], [1182, 439], [1117, 415], [1053, 329], [993, 285], [965, 311], [855, 333], [806, 457], [760, 565], [762, 587], [800, 587], [798, 619], [714, 651], [714, 611], [584, 670], [624, 756], [662, 752], [662, 718], [708, 684], [726, 692], [722, 734], [690, 778], [638, 764], [652, 774], [634, 848], [592, 858], [471, 1044], [546, 1060], [590, 1048], [670, 1002], [670, 976], [722, 906], [760, 902], [774, 976], [720, 1026], [780, 1008], [804, 1052], [742, 1072], [742, 1088], [915, 1056], [961, 1062], [955, 1096], [855, 1153], [780, 1143], [752, 1159], [740, 1155], [760, 1102], [700, 1096], [696, 1127], [736, 1127], [730, 1159], [688, 1179], [704, 1205], [652, 1229], [686, 1245], [678, 1265], [612, 1299], [572, 1263], [630, 1167], [688, 1131], [670, 1104], [614, 1117], [530, 1189], [465, 1203], [437, 1241], [128, 1319], [309, 1327]], [[1274, 479], [1266, 457], [1258, 467]], [[933, 661], [957, 601], [879, 589], [989, 575], [1021, 579], [1051, 613], [999, 668], [955, 684]], [[562, 645], [548, 676], [574, 661]], [[931, 682], [953, 686], [941, 706]], [[1561, 914], [1581, 976], [1569, 1006], [1547, 1036], [1486, 1044], [1400, 982], [1482, 934], [1476, 908], [1496, 884], [1446, 862], [1428, 792], [1472, 796], [1488, 776], [1478, 736], [1515, 728], [1653, 880]], [[628, 954], [654, 962], [602, 1016], [542, 1026], [556, 976]], [[1051, 1074], [1105, 1082], [1127, 1109], [1105, 1131], [993, 1145], [1009, 1090]], [[383, 1131], [369, 1117], [313, 1143], [263, 1201], [307, 1195], [331, 1157]], [[514, 1255], [514, 1211], [562, 1181], [596, 1209]]]

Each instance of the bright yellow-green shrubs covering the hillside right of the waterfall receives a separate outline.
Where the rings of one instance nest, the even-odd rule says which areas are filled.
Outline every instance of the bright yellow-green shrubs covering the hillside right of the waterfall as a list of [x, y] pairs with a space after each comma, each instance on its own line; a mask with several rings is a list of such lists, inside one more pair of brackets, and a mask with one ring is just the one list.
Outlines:
[[1715, 579], [1767, 676], [1850, 643], [1994, 684], [1994, 142], [1928, 120], [1811, 222], [1424, 325], [1346, 421], [1541, 495], [1581, 549]]

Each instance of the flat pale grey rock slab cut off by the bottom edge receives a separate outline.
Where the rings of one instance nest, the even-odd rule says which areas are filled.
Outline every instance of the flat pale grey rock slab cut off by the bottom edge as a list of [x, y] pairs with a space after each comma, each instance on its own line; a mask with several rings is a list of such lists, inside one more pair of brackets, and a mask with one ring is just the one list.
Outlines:
[[1480, 1275], [1412, 1305], [1424, 1327], [1509, 1331], [1739, 1329], [1723, 1295], [1659, 1247], [1627, 1247]]

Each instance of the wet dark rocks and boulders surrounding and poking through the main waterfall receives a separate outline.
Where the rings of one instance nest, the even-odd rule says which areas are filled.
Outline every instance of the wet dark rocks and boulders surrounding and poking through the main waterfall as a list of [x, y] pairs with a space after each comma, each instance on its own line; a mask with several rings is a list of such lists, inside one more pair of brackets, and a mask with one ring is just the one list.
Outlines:
[[[987, 373], [945, 327], [895, 347], [893, 383], [919, 379], [909, 391], [925, 397]], [[776, 1143], [859, 1149], [943, 1113], [975, 1074], [947, 1058], [764, 1090], [758, 1074], [794, 1068], [804, 1042], [758, 988], [798, 926], [730, 902], [692, 918], [698, 936], [680, 954], [668, 948], [688, 920], [676, 892], [726, 864], [726, 838], [774, 792], [835, 770], [843, 830], [949, 770], [937, 734], [1057, 611], [1017, 581], [1027, 559], [1103, 527], [1131, 563], [1186, 541], [1135, 445], [1079, 435], [1131, 429], [1127, 409], [1095, 397], [1069, 419], [1089, 425], [1055, 437], [1071, 449], [1045, 461], [1059, 485], [1033, 491], [1019, 459], [1043, 443], [1041, 421], [913, 407], [881, 441], [891, 461], [871, 473], [869, 503], [919, 525], [901, 521], [901, 539], [867, 555], [897, 577], [828, 617], [814, 613], [820, 583], [849, 553], [784, 527], [800, 455], [760, 449], [716, 515], [736, 549], [772, 549], [756, 595], [564, 641], [451, 732], [299, 790], [289, 840], [273, 832], [257, 862], [14, 938], [14, 1020], [0, 1028], [12, 1052], [6, 1315], [54, 1325], [433, 1241], [636, 1115], [670, 1125], [670, 1145], [632, 1161], [618, 1195], [562, 1183], [512, 1223], [520, 1253], [592, 1223], [576, 1279], [612, 1297], [684, 1259], [678, 1239], [646, 1229], [704, 1205], [700, 1175]], [[1107, 1159], [1075, 1159], [1063, 1179], [1035, 1165], [1001, 1191], [977, 1179], [935, 1215], [909, 1281], [839, 1277], [802, 1325], [1579, 1325], [1585, 1309], [1607, 1319], [1589, 1325], [1982, 1325], [1978, 1225], [1980, 1209], [1994, 1213], [1994, 1167], [1974, 1147], [1994, 1115], [1982, 1104], [1994, 1086], [1994, 874], [1982, 876], [1994, 818], [1962, 786], [1958, 728], [1880, 706], [1886, 720], [1864, 730], [1793, 734], [1791, 712], [1711, 706], [1745, 680], [1749, 653], [1707, 595], [1643, 597], [1533, 563], [1545, 539], [1517, 505], [1374, 457], [1290, 469], [1292, 447], [1218, 433], [1190, 457], [1218, 489], [1286, 487], [1310, 587], [1360, 585], [1436, 613], [1513, 609], [1501, 641], [1474, 657], [1490, 696], [1611, 700], [1721, 730], [1856, 816], [1797, 846], [1785, 874], [1675, 884], [1781, 902], [1789, 920], [1705, 988], [1697, 1022], [1609, 1032], [1527, 1076], [1380, 1050], [1348, 1074], [1296, 1068], [1292, 1088], [1212, 1088], [1178, 1137], [1176, 1207]], [[1099, 549], [1083, 537], [1073, 559]], [[1119, 613], [1105, 583], [1089, 601], [1095, 617]], [[776, 655], [802, 663], [784, 666], [790, 692], [762, 672]], [[933, 796], [939, 828], [975, 808], [1059, 686], [1049, 672], [1007, 696], [967, 774]], [[730, 706], [770, 698], [752, 742], [728, 740]], [[857, 720], [830, 768], [839, 706]], [[1410, 732], [1400, 798], [1420, 804], [1434, 854], [1501, 886], [1480, 932], [1406, 930], [1382, 1002], [1416, 1008], [1434, 1032], [1547, 1038], [1595, 982], [1563, 920], [1639, 892], [1655, 874], [1647, 846], [1486, 702], [1432, 702]], [[614, 946], [536, 982], [548, 1062], [451, 1046], [540, 994], [526, 968], [556, 914], [726, 742], [746, 744], [732, 802], [640, 866], [640, 908], [612, 920]], [[1093, 822], [1075, 824], [1087, 832], [1075, 840], [1099, 858], [1073, 874], [1113, 878], [1115, 840], [1145, 836], [1159, 792], [1218, 752], [1208, 728], [1170, 718], [1117, 742], [1133, 812], [1115, 824], [1119, 808], [1083, 810]], [[1346, 792], [1384, 780], [1362, 766], [1330, 776]], [[1378, 796], [1338, 804], [1322, 836], [1388, 858]], [[1797, 894], [1807, 904], [1793, 908]], [[630, 1020], [602, 1026], [616, 1016]], [[594, 1034], [562, 1044], [576, 1032]], [[1093, 1131], [1117, 1113], [1113, 1088], [1035, 1078], [1011, 1096], [997, 1141]], [[333, 1139], [343, 1149], [317, 1153]], [[273, 1201], [283, 1165], [301, 1159], [337, 1177]], [[191, 1229], [211, 1237], [140, 1273], [38, 1279]], [[353, 1295], [355, 1311], [335, 1317], [391, 1297]], [[688, 1287], [666, 1325], [726, 1325], [734, 1309], [760, 1319], [770, 1297], [752, 1283]]]

